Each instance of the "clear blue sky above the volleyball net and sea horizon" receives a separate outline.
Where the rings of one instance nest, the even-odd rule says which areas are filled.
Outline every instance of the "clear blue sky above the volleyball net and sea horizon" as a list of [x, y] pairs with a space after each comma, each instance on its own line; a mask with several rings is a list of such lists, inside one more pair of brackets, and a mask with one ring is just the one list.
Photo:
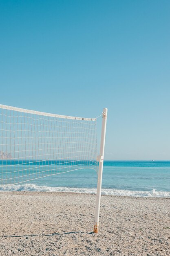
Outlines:
[[107, 159], [170, 159], [170, 1], [1, 0], [0, 103], [106, 107]]

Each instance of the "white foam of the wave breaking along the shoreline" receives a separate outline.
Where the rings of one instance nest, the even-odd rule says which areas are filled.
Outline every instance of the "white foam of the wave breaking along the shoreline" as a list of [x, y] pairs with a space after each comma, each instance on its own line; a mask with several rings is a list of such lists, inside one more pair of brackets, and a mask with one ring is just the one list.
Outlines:
[[[1, 185], [0, 191], [49, 191], [49, 192], [73, 192], [73, 193], [96, 194], [96, 189], [38, 186], [36, 184]], [[155, 189], [152, 189], [151, 191], [102, 189], [102, 195], [170, 198], [170, 191], [156, 191]]]

